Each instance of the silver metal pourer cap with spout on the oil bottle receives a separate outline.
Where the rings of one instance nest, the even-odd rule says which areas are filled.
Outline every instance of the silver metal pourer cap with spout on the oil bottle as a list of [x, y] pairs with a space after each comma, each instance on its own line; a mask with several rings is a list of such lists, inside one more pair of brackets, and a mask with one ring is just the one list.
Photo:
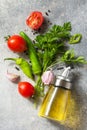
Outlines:
[[69, 79], [71, 67], [66, 67], [62, 75], [58, 76], [55, 82], [55, 87], [62, 87], [65, 89], [71, 89], [72, 83]]

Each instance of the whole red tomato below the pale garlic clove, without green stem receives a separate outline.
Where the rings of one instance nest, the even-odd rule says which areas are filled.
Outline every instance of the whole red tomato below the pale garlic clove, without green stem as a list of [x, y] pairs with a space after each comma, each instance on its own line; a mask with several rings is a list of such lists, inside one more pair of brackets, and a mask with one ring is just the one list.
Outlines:
[[34, 87], [29, 82], [19, 82], [18, 91], [23, 97], [32, 97], [35, 92]]

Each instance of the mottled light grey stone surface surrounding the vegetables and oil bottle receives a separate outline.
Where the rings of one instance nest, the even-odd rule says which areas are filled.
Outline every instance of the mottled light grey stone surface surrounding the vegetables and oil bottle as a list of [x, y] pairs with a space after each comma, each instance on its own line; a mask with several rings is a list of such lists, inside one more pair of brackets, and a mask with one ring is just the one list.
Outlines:
[[[51, 10], [49, 16], [45, 12]], [[21, 80], [27, 79], [21, 71], [14, 69], [13, 64], [4, 62], [5, 57], [16, 57], [9, 51], [4, 36], [18, 34], [27, 30], [29, 36], [34, 36], [26, 26], [25, 19], [33, 10], [43, 12], [44, 17], [53, 24], [72, 23], [72, 33], [82, 33], [83, 39], [79, 45], [72, 45], [77, 55], [87, 59], [87, 0], [0, 0], [0, 130], [68, 130], [52, 121], [37, 116], [31, 101], [21, 97], [17, 84], [6, 78], [7, 69], [21, 75]], [[78, 68], [80, 77], [75, 81], [74, 88], [81, 118], [78, 130], [87, 130], [87, 67]], [[32, 82], [32, 81], [31, 81]]]

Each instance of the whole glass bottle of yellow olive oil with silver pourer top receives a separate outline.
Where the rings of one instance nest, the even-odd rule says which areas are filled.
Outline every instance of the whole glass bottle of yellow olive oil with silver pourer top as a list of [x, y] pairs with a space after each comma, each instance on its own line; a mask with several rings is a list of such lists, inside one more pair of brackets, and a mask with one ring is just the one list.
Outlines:
[[71, 81], [68, 78], [70, 67], [58, 76], [55, 85], [51, 85], [42, 102], [39, 116], [63, 123], [71, 95]]

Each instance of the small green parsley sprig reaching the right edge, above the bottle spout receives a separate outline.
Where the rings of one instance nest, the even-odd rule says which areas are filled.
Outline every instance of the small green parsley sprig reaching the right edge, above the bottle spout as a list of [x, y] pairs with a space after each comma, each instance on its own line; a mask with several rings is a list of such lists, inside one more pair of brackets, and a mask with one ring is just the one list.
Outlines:
[[75, 64], [87, 64], [87, 61], [83, 56], [76, 57], [74, 50], [68, 50], [60, 58], [60, 61], [65, 62], [68, 65]]

